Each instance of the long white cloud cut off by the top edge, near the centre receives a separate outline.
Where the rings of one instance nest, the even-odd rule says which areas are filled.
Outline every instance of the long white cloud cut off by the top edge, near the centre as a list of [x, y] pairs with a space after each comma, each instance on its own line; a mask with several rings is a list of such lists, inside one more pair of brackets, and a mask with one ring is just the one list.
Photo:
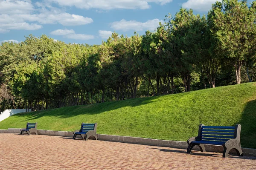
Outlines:
[[148, 9], [149, 3], [165, 5], [172, 0], [47, 0], [61, 6], [76, 6], [80, 9]]

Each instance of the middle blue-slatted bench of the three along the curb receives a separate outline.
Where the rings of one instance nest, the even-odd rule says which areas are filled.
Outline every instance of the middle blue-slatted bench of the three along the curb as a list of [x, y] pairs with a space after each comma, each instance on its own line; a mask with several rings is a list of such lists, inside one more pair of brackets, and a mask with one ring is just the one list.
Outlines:
[[77, 135], [81, 135], [81, 137], [83, 139], [85, 139], [86, 141], [88, 140], [88, 138], [90, 136], [94, 136], [95, 140], [97, 140], [97, 134], [96, 134], [96, 130], [97, 130], [97, 123], [95, 124], [81, 124], [81, 128], [80, 130], [75, 130], [73, 132], [73, 139], [76, 139]]

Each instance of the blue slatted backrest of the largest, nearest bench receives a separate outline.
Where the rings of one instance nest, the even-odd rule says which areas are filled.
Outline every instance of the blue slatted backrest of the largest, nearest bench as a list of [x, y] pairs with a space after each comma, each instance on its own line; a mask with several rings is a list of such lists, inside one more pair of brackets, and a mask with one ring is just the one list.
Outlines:
[[199, 125], [198, 136], [201, 141], [228, 141], [238, 138], [240, 140], [241, 125], [229, 126], [204, 126]]

